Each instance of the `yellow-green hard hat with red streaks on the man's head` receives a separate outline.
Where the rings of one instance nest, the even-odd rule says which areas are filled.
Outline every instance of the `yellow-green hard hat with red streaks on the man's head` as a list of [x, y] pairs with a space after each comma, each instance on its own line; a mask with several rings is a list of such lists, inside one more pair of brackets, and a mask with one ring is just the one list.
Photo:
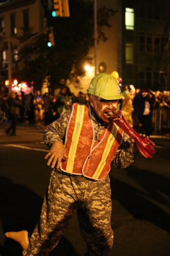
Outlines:
[[122, 98], [117, 80], [108, 73], [99, 73], [93, 77], [87, 93], [106, 100]]

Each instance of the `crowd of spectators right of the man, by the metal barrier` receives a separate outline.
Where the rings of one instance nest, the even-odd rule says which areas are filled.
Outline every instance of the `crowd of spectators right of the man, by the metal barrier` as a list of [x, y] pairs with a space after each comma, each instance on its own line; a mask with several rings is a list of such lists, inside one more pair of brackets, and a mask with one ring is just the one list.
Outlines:
[[[152, 111], [155, 109], [170, 109], [170, 91], [135, 89], [126, 85], [122, 92], [123, 99], [120, 109], [126, 121], [136, 130], [142, 127], [147, 136], [153, 132]], [[133, 114], [132, 114], [133, 113]]]

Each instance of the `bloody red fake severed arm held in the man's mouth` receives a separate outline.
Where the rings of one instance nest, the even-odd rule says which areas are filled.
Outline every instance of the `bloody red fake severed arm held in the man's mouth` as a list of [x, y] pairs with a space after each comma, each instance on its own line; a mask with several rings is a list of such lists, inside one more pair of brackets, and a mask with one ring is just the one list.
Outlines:
[[140, 136], [124, 119], [121, 111], [108, 112], [110, 114], [109, 120], [118, 125], [126, 134], [128, 134], [132, 139], [134, 139], [136, 146], [138, 147], [140, 153], [148, 158], [152, 158], [155, 150], [152, 146], [155, 144], [146, 137]]

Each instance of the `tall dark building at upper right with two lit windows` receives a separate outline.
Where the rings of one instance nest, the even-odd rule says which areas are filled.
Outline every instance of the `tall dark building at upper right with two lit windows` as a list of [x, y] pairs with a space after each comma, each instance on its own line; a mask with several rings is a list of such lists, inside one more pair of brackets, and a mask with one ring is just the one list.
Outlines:
[[98, 45], [98, 66], [105, 62], [106, 72], [118, 71], [123, 84], [135, 88], [170, 89], [170, 2], [105, 0], [100, 4], [118, 12], [105, 29], [108, 40]]

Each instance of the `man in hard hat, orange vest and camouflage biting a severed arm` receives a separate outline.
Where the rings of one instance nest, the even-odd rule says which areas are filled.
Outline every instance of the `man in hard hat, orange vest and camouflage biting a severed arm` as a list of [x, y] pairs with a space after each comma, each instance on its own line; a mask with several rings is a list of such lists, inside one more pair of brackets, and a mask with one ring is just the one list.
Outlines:
[[[130, 137], [110, 121], [122, 97], [117, 80], [107, 73], [97, 74], [87, 93], [91, 94], [89, 106], [75, 103], [72, 110], [65, 111], [45, 130], [44, 142], [50, 148], [45, 159], [49, 158], [47, 164], [51, 164], [53, 170], [40, 221], [29, 241], [25, 230], [6, 233], [7, 237], [20, 242], [25, 256], [49, 255], [75, 211], [87, 243], [85, 255], [110, 255], [113, 245], [110, 164], [126, 168], [134, 162], [138, 148], [135, 141], [131, 142]], [[125, 126], [124, 121], [116, 122]], [[147, 140], [142, 136], [137, 138], [140, 146], [141, 141]]]

